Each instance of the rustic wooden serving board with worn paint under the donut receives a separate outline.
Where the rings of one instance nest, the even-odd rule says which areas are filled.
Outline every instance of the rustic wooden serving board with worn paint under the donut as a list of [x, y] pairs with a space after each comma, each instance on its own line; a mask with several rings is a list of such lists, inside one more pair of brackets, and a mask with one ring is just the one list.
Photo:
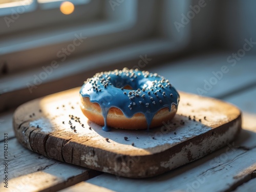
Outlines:
[[13, 117], [18, 141], [60, 161], [145, 178], [199, 159], [231, 142], [241, 130], [241, 112], [235, 106], [179, 92], [175, 118], [161, 127], [104, 132], [82, 114], [79, 89], [20, 105]]

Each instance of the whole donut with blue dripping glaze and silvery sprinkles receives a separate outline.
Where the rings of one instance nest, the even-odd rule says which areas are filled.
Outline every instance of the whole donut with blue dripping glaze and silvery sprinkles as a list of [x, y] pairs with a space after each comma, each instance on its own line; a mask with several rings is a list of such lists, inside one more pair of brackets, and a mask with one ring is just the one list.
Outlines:
[[96, 73], [80, 89], [83, 114], [101, 126], [140, 130], [161, 126], [172, 119], [180, 96], [157, 73], [137, 69]]

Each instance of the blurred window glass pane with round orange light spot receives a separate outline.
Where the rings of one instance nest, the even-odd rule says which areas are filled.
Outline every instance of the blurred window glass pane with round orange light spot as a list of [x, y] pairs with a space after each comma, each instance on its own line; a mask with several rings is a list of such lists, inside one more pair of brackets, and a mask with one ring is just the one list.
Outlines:
[[67, 21], [71, 22], [72, 20], [78, 23], [82, 18], [92, 18], [101, 11], [97, 0], [93, 2], [90, 0], [69, 1], [76, 6], [70, 15], [62, 14], [59, 9], [65, 1], [4, 0], [4, 2], [12, 3], [0, 4], [0, 35], [56, 24], [67, 24]]

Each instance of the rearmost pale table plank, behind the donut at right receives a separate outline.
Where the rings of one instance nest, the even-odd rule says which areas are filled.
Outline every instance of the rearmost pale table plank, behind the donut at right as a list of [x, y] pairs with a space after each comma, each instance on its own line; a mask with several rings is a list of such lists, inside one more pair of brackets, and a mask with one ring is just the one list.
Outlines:
[[[206, 86], [204, 96], [220, 97], [237, 88], [243, 87], [249, 83], [256, 83], [256, 65], [254, 63], [256, 56], [246, 55], [237, 61], [236, 65], [227, 62], [227, 57], [230, 52], [212, 53], [201, 56], [191, 56], [183, 60], [174, 60], [166, 63], [164, 66], [156, 66], [151, 69], [147, 67], [141, 70], [150, 70], [156, 72], [174, 85], [178, 90], [199, 94], [197, 89], [203, 89], [204, 85], [211, 82], [213, 84]], [[222, 67], [226, 66], [227, 73], [220, 73], [217, 81], [215, 74], [221, 71]], [[225, 67], [224, 67], [225, 68]], [[223, 69], [224, 69], [223, 68]]]

